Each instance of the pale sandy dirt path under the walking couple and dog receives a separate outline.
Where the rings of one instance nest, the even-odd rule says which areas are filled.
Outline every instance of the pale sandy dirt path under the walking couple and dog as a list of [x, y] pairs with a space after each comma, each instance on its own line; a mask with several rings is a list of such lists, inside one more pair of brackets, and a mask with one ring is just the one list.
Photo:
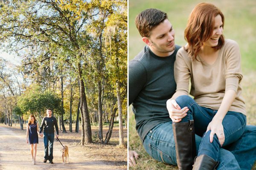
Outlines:
[[[61, 138], [60, 138], [61, 140]], [[29, 144], [26, 143], [26, 136], [17, 134], [13, 130], [0, 127], [0, 170], [117, 170], [114, 165], [107, 165], [104, 161], [88, 161], [77, 145], [69, 147], [70, 163], [62, 164], [61, 144], [54, 141], [53, 162], [54, 164], [43, 163], [44, 142], [39, 137], [37, 147], [36, 164], [32, 164], [32, 156]]]

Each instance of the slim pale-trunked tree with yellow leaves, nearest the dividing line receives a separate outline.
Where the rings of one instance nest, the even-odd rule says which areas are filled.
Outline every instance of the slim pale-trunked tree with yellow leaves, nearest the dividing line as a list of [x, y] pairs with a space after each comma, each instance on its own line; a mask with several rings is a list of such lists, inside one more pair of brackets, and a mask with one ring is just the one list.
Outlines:
[[[107, 23], [108, 55], [107, 62], [109, 81], [116, 87], [116, 97], [119, 114], [119, 146], [124, 146], [122, 125], [122, 101], [127, 93], [127, 9], [125, 3], [119, 6], [119, 11], [111, 16]], [[123, 95], [121, 95], [123, 94]], [[124, 96], [124, 97], [122, 97]]]

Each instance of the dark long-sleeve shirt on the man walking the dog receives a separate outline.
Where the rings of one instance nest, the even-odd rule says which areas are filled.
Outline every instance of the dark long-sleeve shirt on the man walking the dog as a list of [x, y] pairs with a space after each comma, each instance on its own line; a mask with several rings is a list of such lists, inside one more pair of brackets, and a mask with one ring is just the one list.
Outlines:
[[42, 119], [39, 133], [42, 133], [43, 128], [44, 128], [45, 133], [54, 133], [54, 125], [55, 125], [56, 133], [58, 135], [58, 124], [57, 124], [56, 118], [55, 117], [47, 117], [47, 116], [44, 117], [44, 119]]

